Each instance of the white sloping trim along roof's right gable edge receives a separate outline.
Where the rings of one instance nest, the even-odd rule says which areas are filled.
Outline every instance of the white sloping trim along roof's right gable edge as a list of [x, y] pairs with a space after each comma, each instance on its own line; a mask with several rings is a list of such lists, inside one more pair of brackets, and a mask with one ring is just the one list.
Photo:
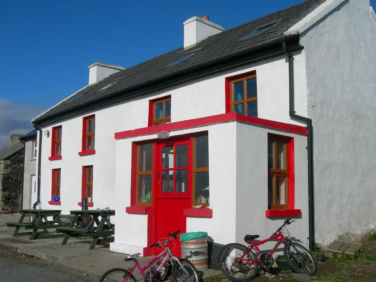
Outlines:
[[306, 31], [309, 27], [320, 21], [325, 15], [331, 12], [333, 9], [337, 8], [340, 4], [345, 2], [345, 0], [327, 0], [319, 7], [314, 9], [308, 15], [306, 15], [301, 21], [290, 27], [284, 32], [285, 35], [301, 34]]

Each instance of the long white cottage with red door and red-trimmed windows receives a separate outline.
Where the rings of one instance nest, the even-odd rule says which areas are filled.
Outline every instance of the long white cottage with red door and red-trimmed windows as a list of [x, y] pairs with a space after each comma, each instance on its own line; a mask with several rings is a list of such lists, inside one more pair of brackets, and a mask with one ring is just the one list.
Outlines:
[[182, 48], [95, 63], [33, 119], [38, 202], [115, 209], [111, 250], [144, 255], [176, 229], [242, 243], [294, 217], [311, 248], [371, 229], [375, 45], [368, 0], [309, 0], [227, 31], [192, 17]]

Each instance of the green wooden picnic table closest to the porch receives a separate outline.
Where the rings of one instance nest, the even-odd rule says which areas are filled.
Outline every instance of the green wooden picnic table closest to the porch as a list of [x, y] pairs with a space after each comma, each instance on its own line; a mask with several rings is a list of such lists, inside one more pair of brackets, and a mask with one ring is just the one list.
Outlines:
[[[56, 230], [64, 233], [62, 245], [66, 245], [70, 237], [91, 237], [93, 240], [90, 245], [90, 250], [94, 249], [97, 244], [105, 244], [114, 241], [115, 234], [114, 225], [111, 224], [110, 216], [115, 215], [114, 210], [84, 210], [84, 211], [70, 211], [73, 217], [68, 227], [56, 227]], [[90, 216], [90, 220], [85, 224], [85, 216]], [[81, 219], [84, 225], [80, 224]]]

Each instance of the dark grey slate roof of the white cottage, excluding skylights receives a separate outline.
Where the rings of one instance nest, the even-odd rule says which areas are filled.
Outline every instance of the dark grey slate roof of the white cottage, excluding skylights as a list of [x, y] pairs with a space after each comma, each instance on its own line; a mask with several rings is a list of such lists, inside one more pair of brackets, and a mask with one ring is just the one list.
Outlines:
[[[209, 36], [195, 47], [190, 48], [190, 50], [199, 50], [180, 64], [166, 67], [175, 59], [181, 57], [182, 54], [187, 53], [188, 50], [185, 51], [183, 48], [170, 51], [152, 58], [147, 62], [119, 71], [77, 92], [74, 96], [64, 100], [43, 115], [38, 116], [34, 120], [34, 123], [46, 122], [46, 120], [53, 119], [67, 112], [88, 110], [91, 107], [95, 107], [95, 103], [98, 103], [98, 101], [114, 99], [114, 97], [120, 93], [135, 91], [135, 89], [145, 86], [152, 88], [153, 85], [156, 85], [164, 79], [179, 77], [193, 70], [214, 64], [215, 62], [224, 61], [232, 56], [250, 52], [250, 50], [256, 47], [261, 48], [271, 42], [280, 41], [286, 38], [283, 34], [286, 30], [298, 23], [303, 17], [324, 2], [325, 0], [308, 0], [238, 27]], [[254, 29], [275, 21], [280, 21], [280, 23], [264, 34], [240, 40]], [[113, 82], [116, 83], [103, 89]]]

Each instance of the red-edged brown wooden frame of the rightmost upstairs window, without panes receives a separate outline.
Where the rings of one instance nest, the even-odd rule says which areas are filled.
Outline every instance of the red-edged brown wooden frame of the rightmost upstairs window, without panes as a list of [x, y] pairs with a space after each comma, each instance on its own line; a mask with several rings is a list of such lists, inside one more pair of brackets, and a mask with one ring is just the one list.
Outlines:
[[[240, 81], [243, 80], [244, 81], [244, 83], [243, 83], [243, 95], [246, 95], [246, 83], [245, 83], [245, 81], [247, 79], [251, 79], [251, 78], [256, 78], [256, 86], [257, 86], [256, 71], [250, 71], [250, 72], [241, 73], [241, 74], [226, 77], [226, 79], [225, 79], [226, 113], [235, 112], [234, 111], [234, 105], [243, 104], [243, 107], [244, 107], [244, 114], [243, 115], [248, 116], [247, 115], [247, 103], [248, 102], [254, 102], [254, 101], [257, 102], [258, 101], [258, 93], [256, 93], [255, 97], [244, 99], [244, 96], [243, 96], [242, 100], [234, 102], [233, 85], [234, 85], [234, 83], [237, 83], [237, 82], [240, 82]], [[258, 116], [255, 116], [255, 117], [258, 117]]]

